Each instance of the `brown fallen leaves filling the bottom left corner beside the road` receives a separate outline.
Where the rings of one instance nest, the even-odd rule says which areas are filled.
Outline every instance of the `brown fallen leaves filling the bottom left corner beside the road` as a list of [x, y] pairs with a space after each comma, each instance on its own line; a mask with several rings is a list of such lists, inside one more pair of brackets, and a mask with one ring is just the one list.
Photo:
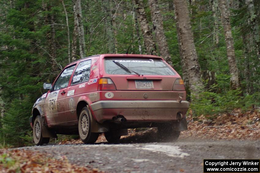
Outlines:
[[66, 156], [53, 158], [46, 153], [25, 149], [1, 149], [0, 173], [37, 172], [37, 173], [98, 173], [98, 169], [89, 170], [70, 164]]

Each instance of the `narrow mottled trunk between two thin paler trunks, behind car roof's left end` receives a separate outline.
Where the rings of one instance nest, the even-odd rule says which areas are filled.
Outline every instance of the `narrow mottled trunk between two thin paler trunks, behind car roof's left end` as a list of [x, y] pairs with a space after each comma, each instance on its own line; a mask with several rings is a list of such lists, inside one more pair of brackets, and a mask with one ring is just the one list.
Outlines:
[[77, 50], [77, 37], [78, 37], [78, 18], [76, 13], [76, 3], [73, 5], [73, 15], [74, 15], [74, 30], [73, 30], [73, 38], [72, 38], [72, 51], [71, 57], [72, 62], [76, 60], [76, 50]]

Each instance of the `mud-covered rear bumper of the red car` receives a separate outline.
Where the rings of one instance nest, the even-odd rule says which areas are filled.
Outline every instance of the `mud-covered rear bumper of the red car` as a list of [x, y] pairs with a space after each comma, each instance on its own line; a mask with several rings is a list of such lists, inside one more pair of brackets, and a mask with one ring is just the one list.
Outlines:
[[178, 112], [185, 115], [189, 102], [175, 100], [102, 100], [92, 103], [96, 120], [102, 123], [123, 115], [127, 122], [162, 122], [176, 120]]

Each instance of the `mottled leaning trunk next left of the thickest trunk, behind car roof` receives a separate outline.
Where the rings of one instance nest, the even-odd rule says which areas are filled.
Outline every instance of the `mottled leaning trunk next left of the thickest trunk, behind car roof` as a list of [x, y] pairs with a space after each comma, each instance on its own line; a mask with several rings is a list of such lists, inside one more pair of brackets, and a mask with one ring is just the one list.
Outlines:
[[156, 45], [153, 40], [152, 30], [149, 28], [149, 23], [143, 8], [143, 0], [135, 0], [136, 12], [138, 21], [143, 33], [144, 46], [146, 47], [146, 53], [150, 55], [156, 55]]

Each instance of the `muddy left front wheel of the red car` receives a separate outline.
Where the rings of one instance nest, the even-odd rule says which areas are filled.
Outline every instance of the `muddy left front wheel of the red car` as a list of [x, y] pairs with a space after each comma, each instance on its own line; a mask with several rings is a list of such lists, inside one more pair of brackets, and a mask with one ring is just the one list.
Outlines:
[[43, 137], [42, 135], [41, 118], [39, 115], [33, 123], [33, 140], [36, 145], [48, 144], [50, 141], [49, 137]]

